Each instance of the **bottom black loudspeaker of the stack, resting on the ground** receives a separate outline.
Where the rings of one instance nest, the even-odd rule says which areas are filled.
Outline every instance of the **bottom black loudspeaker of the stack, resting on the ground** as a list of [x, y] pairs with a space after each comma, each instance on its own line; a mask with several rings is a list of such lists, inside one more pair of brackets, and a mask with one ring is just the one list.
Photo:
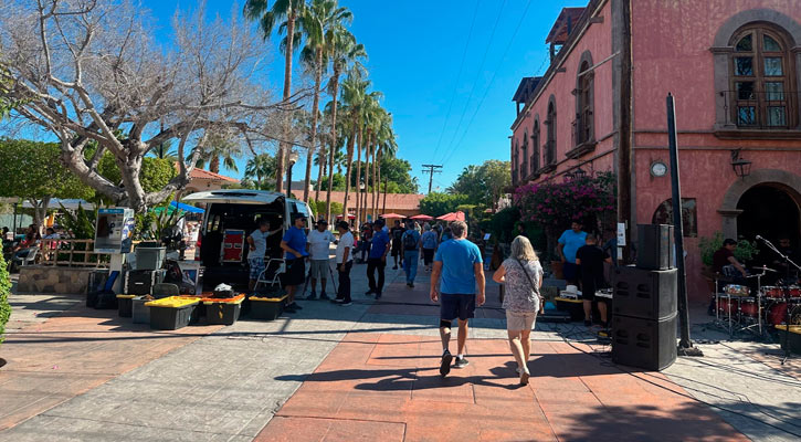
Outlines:
[[664, 370], [676, 360], [677, 314], [660, 319], [612, 318], [612, 361], [646, 370]]

